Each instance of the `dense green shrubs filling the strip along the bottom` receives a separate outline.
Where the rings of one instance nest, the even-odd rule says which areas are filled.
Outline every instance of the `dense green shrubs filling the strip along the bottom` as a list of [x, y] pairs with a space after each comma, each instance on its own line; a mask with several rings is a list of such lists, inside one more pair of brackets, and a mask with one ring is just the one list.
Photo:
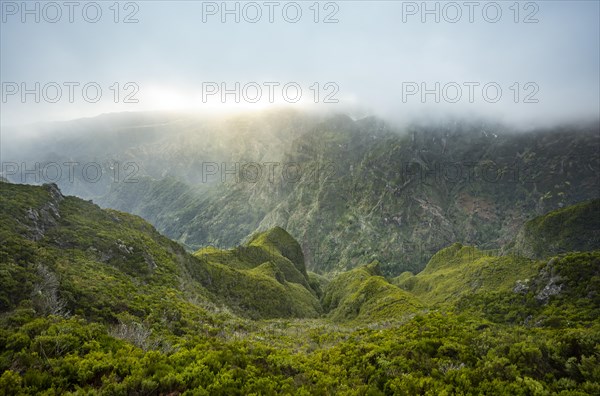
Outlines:
[[[196, 338], [148, 350], [77, 318], [23, 314], [4, 327], [5, 394], [595, 395], [592, 328], [488, 325], [431, 313], [401, 327], [277, 325], [252, 336]], [[280, 344], [284, 344], [281, 347]], [[301, 349], [296, 349], [301, 345]]]

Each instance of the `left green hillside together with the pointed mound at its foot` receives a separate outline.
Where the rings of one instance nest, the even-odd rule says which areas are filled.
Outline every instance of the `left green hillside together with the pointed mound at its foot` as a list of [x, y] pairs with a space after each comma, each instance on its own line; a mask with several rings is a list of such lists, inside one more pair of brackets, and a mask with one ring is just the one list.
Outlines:
[[33, 304], [44, 313], [107, 323], [133, 315], [194, 331], [207, 307], [223, 304], [253, 317], [320, 311], [301, 250], [281, 229], [230, 253], [194, 257], [141, 218], [64, 197], [54, 185], [2, 182], [0, 200], [3, 311]]

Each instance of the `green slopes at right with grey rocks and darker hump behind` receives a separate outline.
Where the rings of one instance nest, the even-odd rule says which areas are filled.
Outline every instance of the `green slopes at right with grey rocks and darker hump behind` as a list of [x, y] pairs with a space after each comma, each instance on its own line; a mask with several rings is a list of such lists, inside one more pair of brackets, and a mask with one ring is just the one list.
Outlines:
[[[500, 323], [562, 327], [591, 325], [600, 315], [598, 201], [583, 202], [529, 221], [517, 246], [481, 251], [455, 243], [436, 253], [417, 275], [392, 283], [429, 307], [483, 315]], [[527, 241], [528, 245], [525, 245]], [[536, 252], [544, 259], [518, 256]]]

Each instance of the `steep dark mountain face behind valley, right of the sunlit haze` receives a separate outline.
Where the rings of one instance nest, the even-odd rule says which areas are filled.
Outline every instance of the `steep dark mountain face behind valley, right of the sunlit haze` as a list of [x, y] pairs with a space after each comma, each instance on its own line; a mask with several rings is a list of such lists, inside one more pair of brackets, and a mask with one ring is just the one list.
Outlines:
[[261, 222], [306, 246], [309, 269], [378, 260], [387, 275], [418, 272], [453, 242], [497, 249], [528, 218], [600, 191], [594, 127], [516, 134], [457, 124], [397, 134], [373, 119], [346, 124], [297, 139], [290, 161], [310, 169], [329, 160], [335, 172], [288, 183]]

